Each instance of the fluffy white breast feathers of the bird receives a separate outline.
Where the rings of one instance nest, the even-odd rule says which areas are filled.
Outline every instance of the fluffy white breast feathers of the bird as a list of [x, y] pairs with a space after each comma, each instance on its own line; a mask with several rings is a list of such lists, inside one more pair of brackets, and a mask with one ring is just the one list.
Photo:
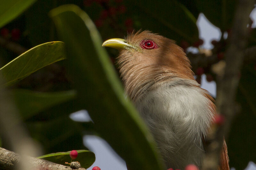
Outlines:
[[152, 132], [166, 168], [201, 167], [202, 138], [214, 110], [196, 81], [174, 78], [151, 86], [134, 101]]

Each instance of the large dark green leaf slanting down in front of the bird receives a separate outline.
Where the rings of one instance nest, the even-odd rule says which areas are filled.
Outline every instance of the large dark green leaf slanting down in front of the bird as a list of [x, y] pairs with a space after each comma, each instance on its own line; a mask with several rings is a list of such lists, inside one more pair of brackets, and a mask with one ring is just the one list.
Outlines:
[[131, 169], [163, 169], [155, 142], [131, 102], [125, 99], [91, 19], [75, 5], [60, 6], [50, 16], [65, 42], [68, 69], [80, 102], [96, 130]]

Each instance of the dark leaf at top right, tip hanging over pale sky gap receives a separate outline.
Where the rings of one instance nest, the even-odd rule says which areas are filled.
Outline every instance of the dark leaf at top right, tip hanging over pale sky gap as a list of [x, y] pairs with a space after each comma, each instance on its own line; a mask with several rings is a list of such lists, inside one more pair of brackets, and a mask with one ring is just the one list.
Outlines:
[[238, 0], [196, 0], [198, 11], [221, 31], [231, 28]]

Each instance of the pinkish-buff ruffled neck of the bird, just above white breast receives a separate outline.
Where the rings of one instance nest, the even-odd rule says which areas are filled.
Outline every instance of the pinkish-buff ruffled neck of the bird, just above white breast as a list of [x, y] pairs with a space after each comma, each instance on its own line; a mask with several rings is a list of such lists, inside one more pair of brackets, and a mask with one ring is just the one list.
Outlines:
[[173, 70], [144, 64], [120, 67], [120, 73], [125, 91], [132, 101], [141, 99], [147, 91], [160, 87], [166, 81], [175, 81], [177, 78], [191, 80], [191, 77], [187, 78]]

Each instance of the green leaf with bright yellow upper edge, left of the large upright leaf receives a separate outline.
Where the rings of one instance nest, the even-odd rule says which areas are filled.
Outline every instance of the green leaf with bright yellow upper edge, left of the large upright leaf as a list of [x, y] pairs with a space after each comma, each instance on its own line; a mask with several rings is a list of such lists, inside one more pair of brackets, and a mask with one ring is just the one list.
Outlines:
[[63, 42], [54, 41], [35, 46], [0, 68], [0, 74], [3, 75], [0, 85], [10, 86], [36, 70], [63, 59]]

